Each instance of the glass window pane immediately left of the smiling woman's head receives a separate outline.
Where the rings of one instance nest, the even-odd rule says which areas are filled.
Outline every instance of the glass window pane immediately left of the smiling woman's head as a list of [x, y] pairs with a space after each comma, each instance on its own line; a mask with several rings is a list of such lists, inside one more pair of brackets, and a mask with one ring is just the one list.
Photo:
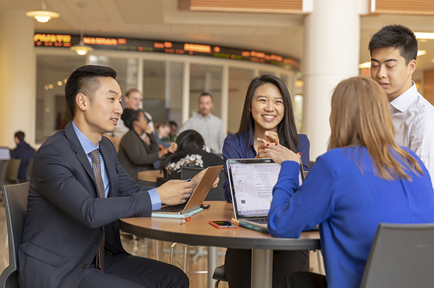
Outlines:
[[242, 108], [254, 71], [241, 68], [229, 68], [229, 99], [227, 107], [227, 133], [236, 133], [240, 128]]

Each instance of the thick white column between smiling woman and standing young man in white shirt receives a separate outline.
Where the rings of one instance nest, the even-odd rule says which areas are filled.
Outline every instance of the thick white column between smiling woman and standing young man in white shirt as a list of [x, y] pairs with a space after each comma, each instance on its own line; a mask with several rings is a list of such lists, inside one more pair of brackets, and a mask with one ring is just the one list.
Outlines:
[[358, 1], [313, 0], [304, 21], [303, 128], [311, 141], [311, 161], [327, 151], [333, 88], [358, 75]]

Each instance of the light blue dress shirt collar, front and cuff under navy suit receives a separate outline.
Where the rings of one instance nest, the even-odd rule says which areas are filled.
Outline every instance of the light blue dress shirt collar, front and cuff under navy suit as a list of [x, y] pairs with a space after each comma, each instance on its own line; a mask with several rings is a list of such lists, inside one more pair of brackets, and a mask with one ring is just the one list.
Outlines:
[[[90, 158], [89, 153], [94, 151], [95, 149], [99, 150], [99, 143], [96, 144], [95, 146], [94, 143], [92, 143], [92, 141], [90, 141], [89, 138], [87, 138], [85, 134], [83, 134], [79, 130], [79, 128], [76, 127], [74, 121], [72, 121], [72, 127], [74, 127], [75, 134], [79, 138], [81, 147], [83, 147], [83, 150], [87, 156], [87, 160], [89, 161], [90, 166], [92, 167], [92, 159]], [[110, 190], [110, 179], [108, 177], [107, 170], [105, 169], [104, 158], [101, 155], [101, 153], [99, 154], [99, 158], [101, 159], [101, 175], [103, 176], [104, 193], [105, 193], [105, 198], [107, 198], [108, 192]], [[151, 198], [152, 210], [161, 209], [161, 199], [156, 189], [155, 188], [150, 189], [148, 193], [149, 193], [149, 197]]]

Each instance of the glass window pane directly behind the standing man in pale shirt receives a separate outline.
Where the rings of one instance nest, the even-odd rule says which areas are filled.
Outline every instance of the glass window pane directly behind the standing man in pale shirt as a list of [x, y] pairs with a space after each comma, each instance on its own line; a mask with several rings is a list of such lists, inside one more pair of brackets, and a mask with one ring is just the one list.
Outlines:
[[213, 115], [221, 118], [222, 111], [222, 77], [223, 67], [213, 65], [190, 65], [190, 109], [189, 116], [198, 112], [198, 96], [202, 92], [212, 95]]

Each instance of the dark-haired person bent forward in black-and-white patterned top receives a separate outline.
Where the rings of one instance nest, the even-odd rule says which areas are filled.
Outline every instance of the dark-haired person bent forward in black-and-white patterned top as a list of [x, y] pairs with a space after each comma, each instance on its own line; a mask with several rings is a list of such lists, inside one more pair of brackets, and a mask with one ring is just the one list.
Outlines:
[[180, 179], [181, 167], [201, 167], [223, 165], [223, 158], [203, 150], [205, 141], [194, 130], [185, 130], [176, 139], [178, 149], [174, 154], [166, 154], [160, 160], [160, 169], [165, 177]]

